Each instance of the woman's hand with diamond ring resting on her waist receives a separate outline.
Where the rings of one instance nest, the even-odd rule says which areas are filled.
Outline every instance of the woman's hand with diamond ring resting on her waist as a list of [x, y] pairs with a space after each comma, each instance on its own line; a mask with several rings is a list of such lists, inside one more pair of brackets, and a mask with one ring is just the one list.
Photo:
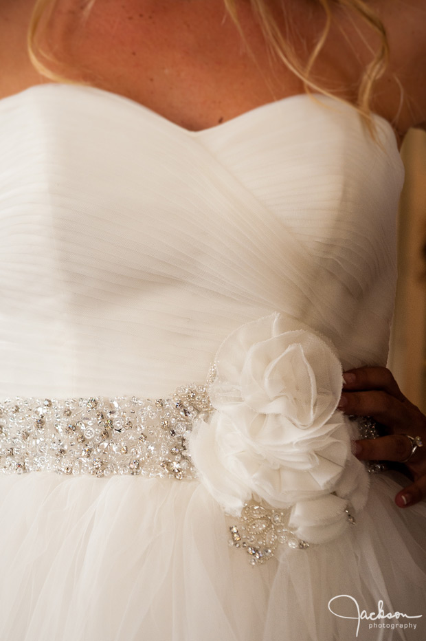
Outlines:
[[355, 455], [361, 461], [405, 461], [412, 444], [405, 434], [421, 437], [404, 472], [412, 484], [398, 492], [395, 503], [407, 508], [426, 497], [426, 416], [401, 392], [385, 367], [359, 367], [344, 373], [339, 409], [345, 414], [371, 416], [383, 426], [385, 435], [355, 441]]

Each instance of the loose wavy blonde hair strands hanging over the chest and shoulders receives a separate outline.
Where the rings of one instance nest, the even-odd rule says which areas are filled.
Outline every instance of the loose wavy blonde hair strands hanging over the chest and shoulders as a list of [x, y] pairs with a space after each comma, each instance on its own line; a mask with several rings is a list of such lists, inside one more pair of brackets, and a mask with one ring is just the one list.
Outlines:
[[[85, 0], [85, 3], [80, 3], [83, 21], [89, 16], [89, 12], [91, 11], [95, 1], [96, 0]], [[336, 10], [338, 7], [344, 8], [346, 11], [352, 10], [361, 17], [361, 19], [363, 19], [370, 29], [379, 36], [379, 46], [377, 47], [377, 51], [372, 52], [372, 60], [367, 65], [366, 69], [364, 69], [358, 87], [357, 104], [354, 106], [366, 121], [370, 133], [374, 135], [374, 123], [371, 117], [370, 102], [372, 99], [374, 83], [376, 83], [383, 74], [385, 67], [388, 64], [389, 45], [383, 23], [377, 16], [376, 12], [372, 10], [368, 2], [365, 0], [313, 0], [317, 6], [322, 7], [324, 10], [326, 21], [324, 29], [320, 34], [320, 38], [318, 39], [315, 47], [313, 47], [313, 51], [309, 55], [307, 63], [305, 63], [300, 60], [300, 57], [297, 54], [295, 54], [291, 42], [283, 36], [282, 29], [278, 25], [276, 18], [273, 16], [273, 12], [271, 12], [271, 8], [267, 3], [267, 0], [247, 1], [258, 18], [265, 41], [269, 44], [271, 51], [278, 56], [284, 65], [287, 65], [287, 67], [302, 80], [304, 90], [307, 93], [315, 91], [326, 96], [332, 96], [333, 94], [330, 94], [330, 91], [313, 79], [312, 69], [330, 32], [330, 27], [333, 21], [333, 10]], [[284, 2], [283, 0], [277, 1], [282, 5], [283, 15], [285, 17]], [[227, 12], [236, 23], [242, 36], [244, 36], [238, 21], [236, 0], [223, 0], [223, 2]], [[32, 64], [36, 69], [38, 69], [38, 72], [43, 74], [43, 76], [60, 82], [73, 83], [75, 82], [74, 80], [52, 70], [52, 64], [58, 63], [57, 58], [52, 53], [47, 52], [45, 48], [38, 45], [37, 36], [41, 25], [46, 25], [48, 23], [49, 19], [52, 17], [55, 6], [56, 0], [36, 0], [30, 20], [30, 28], [27, 34], [28, 52]], [[291, 27], [291, 25], [287, 24], [287, 27]], [[79, 81], [78, 84], [85, 83], [84, 81]]]

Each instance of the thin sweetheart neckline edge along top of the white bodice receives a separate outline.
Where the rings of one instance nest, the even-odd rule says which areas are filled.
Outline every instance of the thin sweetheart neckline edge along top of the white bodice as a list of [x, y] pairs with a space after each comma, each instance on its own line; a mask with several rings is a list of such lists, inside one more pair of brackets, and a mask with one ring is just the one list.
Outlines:
[[[5, 96], [5, 98], [1, 98], [0, 107], [3, 103], [7, 102], [8, 100], [14, 100], [14, 99], [16, 100], [18, 98], [21, 98], [21, 96], [28, 94], [29, 92], [33, 93], [34, 91], [37, 92], [37, 91], [40, 91], [41, 89], [46, 89], [46, 88], [51, 89], [52, 87], [61, 87], [62, 89], [67, 88], [67, 90], [71, 89], [71, 91], [74, 89], [83, 90], [83, 91], [89, 90], [89, 91], [93, 91], [93, 93], [103, 94], [115, 100], [126, 102], [128, 105], [133, 105], [134, 108], [150, 114], [152, 118], [155, 118], [156, 120], [158, 120], [158, 122], [162, 122], [165, 127], [169, 127], [170, 129], [175, 129], [175, 131], [178, 131], [181, 134], [186, 135], [188, 138], [201, 138], [203, 135], [208, 135], [209, 133], [216, 133], [219, 130], [222, 131], [222, 130], [228, 129], [230, 126], [235, 125], [238, 122], [247, 120], [247, 118], [253, 118], [257, 116], [262, 111], [269, 110], [274, 107], [282, 107], [282, 105], [284, 104], [286, 105], [291, 104], [291, 102], [297, 102], [298, 100], [302, 100], [302, 99], [305, 100], [306, 98], [309, 98], [309, 100], [312, 100], [312, 99], [325, 100], [326, 102], [329, 101], [332, 103], [337, 102], [338, 105], [341, 105], [343, 107], [346, 106], [348, 109], [351, 109], [353, 113], [357, 113], [357, 111], [355, 110], [355, 107], [350, 105], [350, 103], [343, 102], [338, 98], [333, 98], [332, 96], [324, 96], [324, 94], [320, 94], [317, 92], [312, 92], [311, 94], [292, 94], [291, 96], [284, 96], [284, 98], [278, 98], [278, 100], [265, 102], [264, 105], [258, 105], [258, 107], [254, 107], [253, 109], [249, 109], [248, 111], [243, 111], [243, 113], [238, 114], [238, 116], [234, 116], [234, 118], [229, 118], [229, 120], [225, 120], [225, 122], [221, 122], [220, 124], [215, 124], [212, 127], [205, 127], [205, 129], [192, 131], [190, 129], [186, 129], [186, 127], [181, 127], [180, 124], [177, 124], [172, 120], [169, 120], [165, 116], [161, 116], [161, 113], [158, 113], [153, 109], [150, 109], [150, 107], [146, 107], [146, 105], [143, 105], [142, 102], [137, 102], [137, 100], [133, 100], [133, 98], [122, 96], [122, 94], [115, 94], [114, 91], [108, 91], [107, 89], [92, 87], [91, 85], [77, 85], [77, 84], [68, 84], [68, 83], [41, 83], [40, 85], [32, 85], [31, 87], [27, 87], [27, 89], [18, 91], [16, 94], [11, 94], [10, 96]], [[386, 118], [383, 118], [383, 116], [380, 116], [379, 113], [372, 112], [372, 118], [385, 124], [385, 127], [388, 129], [388, 131], [392, 133], [392, 138], [394, 139], [396, 146], [399, 147], [399, 142], [397, 140], [396, 133], [392, 127], [392, 124], [390, 124], [390, 122], [386, 120]]]

